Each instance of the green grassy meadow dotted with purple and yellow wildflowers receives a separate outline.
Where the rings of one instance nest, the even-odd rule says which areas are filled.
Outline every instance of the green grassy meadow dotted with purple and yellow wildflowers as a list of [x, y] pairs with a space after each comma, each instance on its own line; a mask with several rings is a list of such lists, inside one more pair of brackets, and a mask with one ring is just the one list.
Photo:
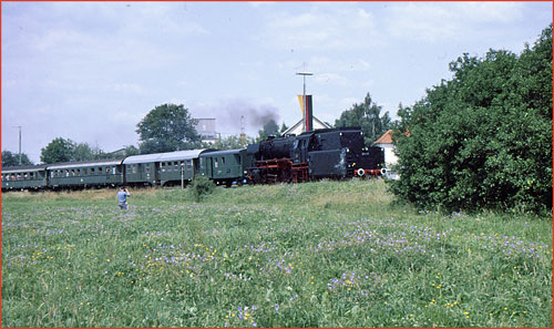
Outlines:
[[552, 218], [383, 181], [2, 194], [2, 327], [550, 327]]

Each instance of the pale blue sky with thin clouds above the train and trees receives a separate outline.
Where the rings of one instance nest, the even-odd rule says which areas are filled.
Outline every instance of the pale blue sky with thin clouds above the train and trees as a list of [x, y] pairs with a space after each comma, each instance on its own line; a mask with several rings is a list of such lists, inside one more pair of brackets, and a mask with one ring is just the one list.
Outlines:
[[449, 80], [449, 63], [516, 54], [552, 2], [1, 2], [1, 144], [40, 163], [57, 137], [105, 152], [138, 145], [155, 106], [249, 136], [261, 117], [335, 123], [370, 93], [392, 119]]

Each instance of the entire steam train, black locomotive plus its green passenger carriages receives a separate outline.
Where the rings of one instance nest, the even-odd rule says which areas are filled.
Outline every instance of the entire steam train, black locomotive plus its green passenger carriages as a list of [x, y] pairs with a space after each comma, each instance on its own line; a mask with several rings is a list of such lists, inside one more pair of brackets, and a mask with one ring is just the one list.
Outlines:
[[268, 137], [247, 148], [191, 150], [119, 160], [69, 162], [2, 169], [2, 191], [102, 186], [185, 186], [196, 175], [217, 185], [307, 182], [384, 174], [384, 153], [363, 144], [359, 127]]

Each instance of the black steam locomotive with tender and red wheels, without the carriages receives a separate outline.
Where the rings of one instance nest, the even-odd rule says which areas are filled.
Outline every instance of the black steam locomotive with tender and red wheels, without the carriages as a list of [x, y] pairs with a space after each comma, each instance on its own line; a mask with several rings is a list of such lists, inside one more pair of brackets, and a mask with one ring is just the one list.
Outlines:
[[298, 136], [269, 137], [248, 145], [254, 183], [306, 182], [317, 178], [347, 178], [384, 174], [381, 147], [363, 144], [359, 127], [327, 128]]

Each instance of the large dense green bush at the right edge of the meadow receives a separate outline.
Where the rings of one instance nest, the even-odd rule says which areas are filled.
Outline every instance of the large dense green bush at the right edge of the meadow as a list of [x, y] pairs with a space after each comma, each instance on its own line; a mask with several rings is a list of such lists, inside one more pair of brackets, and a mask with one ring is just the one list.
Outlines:
[[490, 50], [400, 105], [392, 191], [448, 212], [552, 208], [552, 25], [520, 56]]

